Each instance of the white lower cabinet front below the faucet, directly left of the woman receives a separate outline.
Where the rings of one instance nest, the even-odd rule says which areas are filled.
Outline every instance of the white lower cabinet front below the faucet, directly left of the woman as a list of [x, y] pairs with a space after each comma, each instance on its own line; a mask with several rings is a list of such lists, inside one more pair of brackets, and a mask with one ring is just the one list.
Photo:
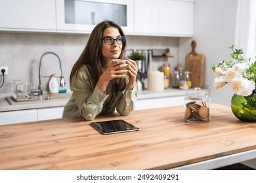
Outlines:
[[37, 108], [38, 120], [62, 118], [64, 107]]

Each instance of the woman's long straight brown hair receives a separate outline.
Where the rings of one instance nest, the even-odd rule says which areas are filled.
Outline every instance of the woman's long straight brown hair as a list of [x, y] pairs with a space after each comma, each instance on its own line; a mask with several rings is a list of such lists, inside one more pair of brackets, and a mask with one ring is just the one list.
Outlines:
[[[121, 36], [124, 36], [124, 33], [117, 25], [116, 23], [110, 21], [110, 20], [105, 20], [101, 22], [100, 24], [96, 25], [96, 27], [93, 29], [89, 40], [85, 46], [85, 49], [81, 53], [81, 56], [77, 59], [75, 62], [72, 71], [70, 73], [70, 86], [72, 85], [72, 78], [75, 76], [77, 70], [82, 67], [83, 65], [90, 65], [88, 67], [91, 78], [93, 78], [93, 88], [94, 90], [98, 79], [100, 78], [100, 75], [102, 75], [102, 69], [103, 69], [103, 59], [102, 59], [102, 41], [100, 40], [102, 38], [103, 32], [106, 28], [108, 27], [116, 27], [119, 30], [119, 33]], [[123, 43], [123, 47], [121, 49], [121, 54], [119, 58], [123, 58], [124, 53], [125, 53], [125, 46], [126, 46], [126, 41]], [[124, 90], [126, 86], [126, 79], [115, 79], [114, 80], [114, 89], [115, 92], [117, 90]]]

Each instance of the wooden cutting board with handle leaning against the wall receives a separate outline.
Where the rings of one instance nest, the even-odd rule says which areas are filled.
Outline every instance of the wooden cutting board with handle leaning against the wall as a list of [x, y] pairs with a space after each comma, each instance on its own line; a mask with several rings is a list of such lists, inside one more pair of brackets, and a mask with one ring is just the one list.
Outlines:
[[205, 56], [196, 53], [196, 41], [191, 42], [192, 52], [190, 52], [185, 59], [185, 71], [190, 71], [190, 80], [192, 88], [203, 86], [203, 73], [205, 65]]

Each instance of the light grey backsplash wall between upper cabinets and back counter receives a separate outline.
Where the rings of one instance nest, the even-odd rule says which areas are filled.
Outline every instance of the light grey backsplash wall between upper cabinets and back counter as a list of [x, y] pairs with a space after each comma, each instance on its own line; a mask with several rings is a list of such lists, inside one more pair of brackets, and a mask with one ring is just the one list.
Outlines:
[[[174, 58], [153, 58], [155, 68], [163, 63], [171, 63], [172, 69], [178, 63], [179, 38], [149, 37], [127, 35], [127, 49], [170, 48]], [[47, 34], [47, 33], [0, 33], [0, 66], [7, 66], [9, 75], [5, 76], [5, 84], [0, 88], [0, 97], [11, 93], [11, 81], [22, 80], [31, 88], [39, 85], [39, 60], [43, 53], [56, 53], [62, 61], [62, 69], [66, 80], [66, 89], [70, 89], [70, 71], [79, 58], [89, 35]], [[182, 64], [182, 63], [181, 63]], [[43, 76], [57, 73], [60, 76], [58, 59], [45, 56], [42, 61]], [[59, 80], [59, 78], [58, 78]], [[43, 78], [43, 91], [47, 90], [49, 78]], [[0, 83], [3, 76], [0, 76]]]

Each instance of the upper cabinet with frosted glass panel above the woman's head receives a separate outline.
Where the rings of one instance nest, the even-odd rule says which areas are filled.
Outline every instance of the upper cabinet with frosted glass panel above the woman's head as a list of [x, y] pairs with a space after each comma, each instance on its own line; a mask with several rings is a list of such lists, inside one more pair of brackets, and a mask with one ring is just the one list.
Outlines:
[[56, 0], [57, 31], [91, 33], [96, 24], [112, 20], [133, 33], [131, 0]]

